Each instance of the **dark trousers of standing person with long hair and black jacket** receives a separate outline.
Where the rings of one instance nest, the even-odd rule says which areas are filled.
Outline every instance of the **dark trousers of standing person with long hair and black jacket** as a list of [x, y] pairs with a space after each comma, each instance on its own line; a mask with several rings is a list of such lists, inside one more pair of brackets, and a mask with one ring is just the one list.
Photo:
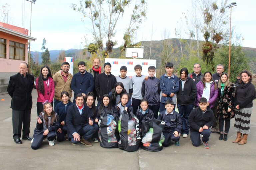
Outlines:
[[188, 117], [189, 117], [190, 112], [193, 110], [194, 105], [177, 104], [177, 107], [178, 107], [181, 122], [182, 122], [181, 134], [182, 133], [188, 134], [188, 132], [189, 132]]

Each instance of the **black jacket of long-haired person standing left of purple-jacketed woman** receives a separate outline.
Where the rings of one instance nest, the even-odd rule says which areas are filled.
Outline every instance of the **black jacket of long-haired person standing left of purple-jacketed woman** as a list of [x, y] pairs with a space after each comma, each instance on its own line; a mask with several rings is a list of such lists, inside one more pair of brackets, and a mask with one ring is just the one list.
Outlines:
[[182, 91], [182, 82], [179, 78], [179, 91], [177, 93], [177, 104], [180, 105], [194, 105], [195, 98], [197, 95], [196, 84], [190, 77], [187, 78], [183, 91]]

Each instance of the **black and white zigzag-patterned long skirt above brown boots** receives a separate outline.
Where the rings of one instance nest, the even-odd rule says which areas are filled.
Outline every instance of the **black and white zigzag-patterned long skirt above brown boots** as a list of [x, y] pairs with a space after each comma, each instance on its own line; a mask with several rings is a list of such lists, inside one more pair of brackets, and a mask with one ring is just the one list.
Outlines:
[[242, 134], [250, 133], [251, 108], [235, 109], [235, 130]]

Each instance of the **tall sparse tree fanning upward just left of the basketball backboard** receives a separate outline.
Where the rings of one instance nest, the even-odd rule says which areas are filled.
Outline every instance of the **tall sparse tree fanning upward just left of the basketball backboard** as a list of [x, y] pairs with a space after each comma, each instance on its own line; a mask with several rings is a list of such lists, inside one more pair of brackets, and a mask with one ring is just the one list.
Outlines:
[[[101, 61], [112, 52], [116, 45], [113, 37], [116, 34], [117, 23], [132, 2], [133, 0], [81, 0], [79, 6], [72, 4], [73, 10], [83, 16], [83, 21], [89, 20], [91, 23], [89, 30], [92, 32], [94, 41], [88, 45], [88, 51], [96, 53]], [[124, 37], [127, 41], [138, 29], [138, 24], [142, 21], [141, 18], [145, 17], [144, 4], [146, 4], [145, 0], [135, 2], [129, 26], [125, 31]], [[106, 50], [103, 50], [104, 42]]]

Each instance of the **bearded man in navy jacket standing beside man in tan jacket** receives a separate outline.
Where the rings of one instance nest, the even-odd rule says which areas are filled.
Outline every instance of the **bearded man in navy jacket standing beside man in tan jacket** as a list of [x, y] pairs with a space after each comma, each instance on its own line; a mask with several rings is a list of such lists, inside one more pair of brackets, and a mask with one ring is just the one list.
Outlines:
[[[81, 93], [83, 97], [86, 97], [88, 92], [92, 92], [94, 88], [94, 79], [91, 73], [86, 71], [86, 64], [84, 61], [78, 62], [79, 72], [74, 74], [71, 81], [71, 89], [74, 91], [74, 95]], [[75, 99], [73, 103], [75, 103]]]

